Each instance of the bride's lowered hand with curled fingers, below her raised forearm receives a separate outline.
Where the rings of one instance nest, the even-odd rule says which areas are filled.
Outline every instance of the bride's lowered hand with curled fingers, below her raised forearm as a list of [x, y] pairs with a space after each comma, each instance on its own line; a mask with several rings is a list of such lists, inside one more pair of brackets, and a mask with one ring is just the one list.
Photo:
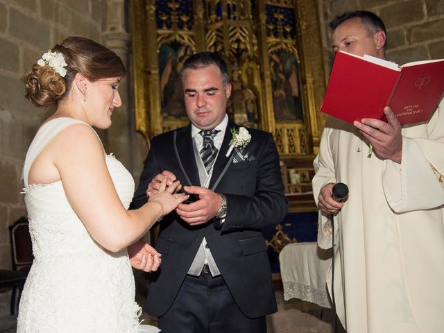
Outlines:
[[162, 260], [161, 254], [153, 246], [144, 241], [136, 241], [135, 244], [128, 246], [128, 257], [130, 257], [131, 266], [145, 272], [157, 271]]

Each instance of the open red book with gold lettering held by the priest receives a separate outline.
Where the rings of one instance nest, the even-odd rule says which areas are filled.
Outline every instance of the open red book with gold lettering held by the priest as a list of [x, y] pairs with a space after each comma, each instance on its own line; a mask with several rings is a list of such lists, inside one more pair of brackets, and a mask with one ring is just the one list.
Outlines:
[[444, 92], [444, 59], [398, 67], [371, 56], [336, 52], [321, 111], [352, 123], [384, 119], [386, 105], [401, 125], [428, 121]]

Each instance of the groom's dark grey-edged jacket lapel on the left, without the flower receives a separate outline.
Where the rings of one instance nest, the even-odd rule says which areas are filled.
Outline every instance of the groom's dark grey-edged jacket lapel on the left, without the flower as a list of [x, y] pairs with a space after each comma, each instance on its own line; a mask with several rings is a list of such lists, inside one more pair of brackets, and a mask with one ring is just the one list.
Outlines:
[[178, 163], [182, 169], [182, 172], [187, 178], [187, 182], [190, 184], [182, 185], [200, 185], [199, 174], [196, 164], [196, 158], [194, 157], [193, 139], [191, 137], [191, 124], [185, 128], [181, 128], [176, 131], [176, 145], [175, 151], [178, 157]]

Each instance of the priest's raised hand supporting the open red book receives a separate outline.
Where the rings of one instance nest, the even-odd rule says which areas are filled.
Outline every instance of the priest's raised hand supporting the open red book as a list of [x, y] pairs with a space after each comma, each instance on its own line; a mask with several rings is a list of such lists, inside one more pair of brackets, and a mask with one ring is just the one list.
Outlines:
[[400, 164], [402, 159], [401, 125], [388, 106], [384, 108], [384, 114], [387, 122], [364, 118], [361, 121], [354, 121], [353, 125], [373, 146], [376, 155]]

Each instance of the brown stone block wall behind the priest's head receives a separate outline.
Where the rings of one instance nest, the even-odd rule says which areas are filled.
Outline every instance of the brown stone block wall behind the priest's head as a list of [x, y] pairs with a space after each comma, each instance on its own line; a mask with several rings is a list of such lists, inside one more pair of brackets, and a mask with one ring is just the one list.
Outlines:
[[407, 62], [444, 58], [444, 0], [319, 0], [321, 30], [325, 32], [325, 69], [330, 72], [334, 53], [328, 23], [348, 10], [370, 10], [387, 30], [388, 60]]

